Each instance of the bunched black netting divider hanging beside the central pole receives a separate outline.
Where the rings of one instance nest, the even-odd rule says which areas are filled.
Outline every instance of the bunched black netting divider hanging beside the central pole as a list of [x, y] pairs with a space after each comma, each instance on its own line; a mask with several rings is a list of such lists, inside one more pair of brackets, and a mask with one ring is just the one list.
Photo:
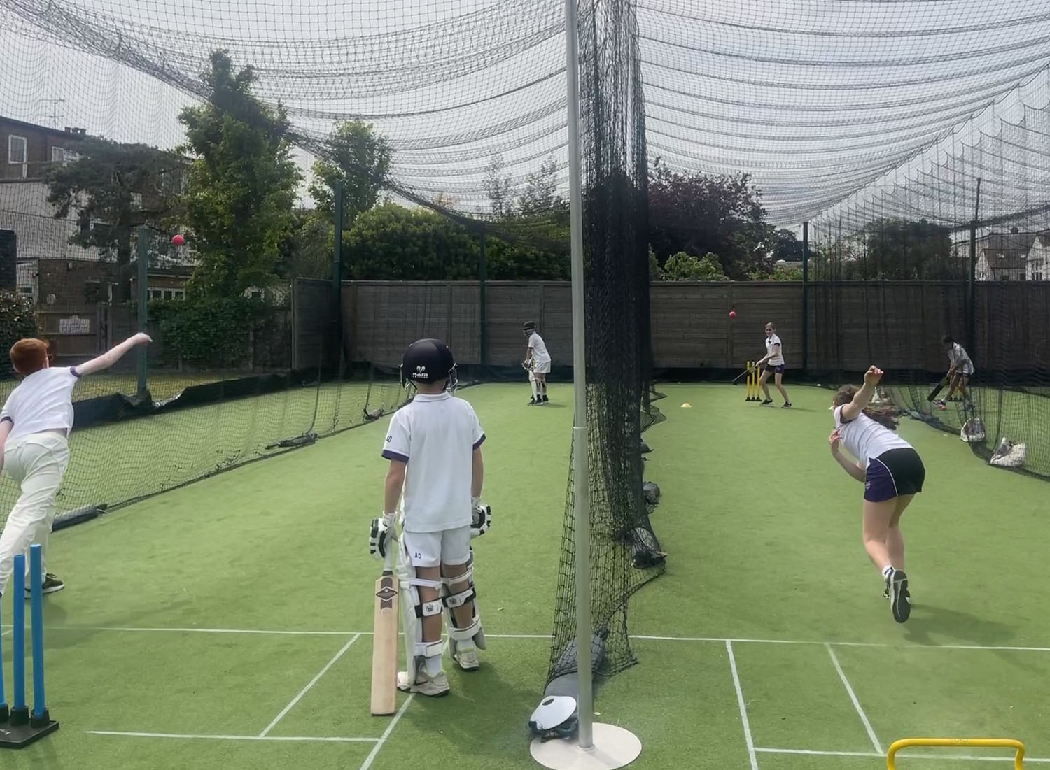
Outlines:
[[[595, 671], [635, 662], [627, 632], [631, 594], [663, 561], [635, 564], [640, 542], [658, 550], [643, 497], [639, 452], [649, 403], [645, 119], [633, 3], [580, 6], [591, 622], [603, 640]], [[648, 426], [647, 426], [648, 427]], [[548, 682], [575, 671], [572, 478], [562, 536]]]

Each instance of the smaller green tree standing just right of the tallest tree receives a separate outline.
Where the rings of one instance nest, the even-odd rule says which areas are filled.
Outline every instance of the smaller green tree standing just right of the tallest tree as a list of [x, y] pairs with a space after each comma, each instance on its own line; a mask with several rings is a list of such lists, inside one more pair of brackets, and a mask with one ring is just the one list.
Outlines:
[[370, 123], [344, 121], [329, 137], [330, 153], [314, 164], [310, 195], [316, 209], [335, 221], [335, 184], [343, 180], [342, 222], [349, 228], [357, 215], [379, 201], [391, 167], [386, 137]]

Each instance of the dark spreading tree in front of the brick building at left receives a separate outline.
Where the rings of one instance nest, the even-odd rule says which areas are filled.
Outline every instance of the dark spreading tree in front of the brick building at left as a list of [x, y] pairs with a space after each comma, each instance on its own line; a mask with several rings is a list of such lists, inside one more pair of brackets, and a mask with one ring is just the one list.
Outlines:
[[85, 136], [75, 146], [80, 158], [47, 169], [47, 201], [55, 216], [76, 212], [80, 232], [69, 242], [116, 256], [118, 300], [130, 299], [132, 233], [162, 229], [175, 210], [185, 161], [147, 145]]

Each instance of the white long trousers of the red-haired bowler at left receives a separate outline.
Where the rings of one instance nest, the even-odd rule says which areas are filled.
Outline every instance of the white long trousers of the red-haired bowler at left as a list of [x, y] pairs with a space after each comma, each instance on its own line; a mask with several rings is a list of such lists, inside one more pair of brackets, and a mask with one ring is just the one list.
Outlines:
[[4, 448], [3, 469], [22, 492], [0, 534], [0, 594], [6, 593], [18, 554], [25, 554], [28, 586], [32, 544], [40, 543], [46, 574], [47, 540], [55, 523], [55, 496], [68, 465], [69, 442], [62, 433], [30, 433], [8, 442]]

